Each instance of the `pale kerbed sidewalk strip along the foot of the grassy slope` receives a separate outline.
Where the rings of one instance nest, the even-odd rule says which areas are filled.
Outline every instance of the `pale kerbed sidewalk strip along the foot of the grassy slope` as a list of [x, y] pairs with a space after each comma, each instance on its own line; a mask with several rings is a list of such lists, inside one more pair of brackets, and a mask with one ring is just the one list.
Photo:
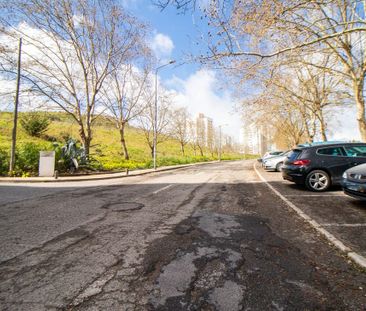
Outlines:
[[131, 176], [139, 176], [152, 174], [156, 172], [164, 172], [170, 170], [181, 169], [190, 166], [203, 165], [209, 163], [217, 163], [218, 161], [208, 161], [208, 162], [197, 162], [191, 164], [183, 165], [172, 165], [172, 166], [162, 166], [158, 167], [156, 170], [153, 168], [145, 170], [133, 170], [127, 172], [118, 173], [105, 173], [105, 174], [88, 174], [88, 175], [76, 175], [76, 176], [61, 176], [57, 179], [54, 177], [0, 177], [0, 183], [36, 183], [36, 182], [66, 182], [66, 181], [86, 181], [86, 180], [103, 180], [103, 179], [113, 179], [113, 178], [124, 178]]

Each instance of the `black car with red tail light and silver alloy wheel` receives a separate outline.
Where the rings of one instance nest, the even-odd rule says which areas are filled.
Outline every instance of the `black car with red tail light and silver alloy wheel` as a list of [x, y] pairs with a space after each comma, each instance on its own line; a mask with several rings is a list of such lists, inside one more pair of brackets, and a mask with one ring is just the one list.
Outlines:
[[366, 163], [363, 143], [299, 147], [287, 156], [282, 176], [296, 184], [305, 184], [312, 191], [325, 191], [341, 183], [344, 171], [362, 163]]

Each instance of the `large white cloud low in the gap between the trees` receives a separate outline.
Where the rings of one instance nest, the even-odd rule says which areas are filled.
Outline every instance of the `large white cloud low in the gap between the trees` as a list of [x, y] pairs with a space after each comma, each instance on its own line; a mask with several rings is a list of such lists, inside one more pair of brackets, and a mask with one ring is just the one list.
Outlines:
[[219, 80], [213, 71], [199, 70], [186, 80], [174, 77], [165, 85], [180, 89], [175, 102], [187, 106], [193, 118], [203, 113], [213, 119], [215, 127], [227, 124], [222, 128], [223, 132], [239, 141], [242, 124], [240, 115], [234, 112], [235, 101], [228, 92], [219, 89]]

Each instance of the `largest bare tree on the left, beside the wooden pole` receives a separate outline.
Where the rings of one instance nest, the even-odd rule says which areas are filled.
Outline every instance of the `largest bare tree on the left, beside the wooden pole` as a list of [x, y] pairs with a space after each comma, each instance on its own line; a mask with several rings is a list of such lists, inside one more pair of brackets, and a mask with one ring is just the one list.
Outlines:
[[[89, 155], [100, 90], [136, 47], [135, 18], [114, 0], [14, 0], [1, 3], [1, 23], [3, 43], [23, 38], [23, 81], [77, 122]], [[4, 73], [14, 71], [11, 50], [0, 54]]]

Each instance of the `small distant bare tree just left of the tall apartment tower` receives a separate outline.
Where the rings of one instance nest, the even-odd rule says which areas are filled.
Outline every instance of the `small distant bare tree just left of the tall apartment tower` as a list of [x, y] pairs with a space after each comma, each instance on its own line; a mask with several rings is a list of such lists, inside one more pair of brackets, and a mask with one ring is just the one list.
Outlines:
[[190, 115], [187, 107], [177, 108], [172, 112], [171, 134], [178, 140], [180, 150], [184, 156], [184, 147], [189, 142], [189, 121]]

